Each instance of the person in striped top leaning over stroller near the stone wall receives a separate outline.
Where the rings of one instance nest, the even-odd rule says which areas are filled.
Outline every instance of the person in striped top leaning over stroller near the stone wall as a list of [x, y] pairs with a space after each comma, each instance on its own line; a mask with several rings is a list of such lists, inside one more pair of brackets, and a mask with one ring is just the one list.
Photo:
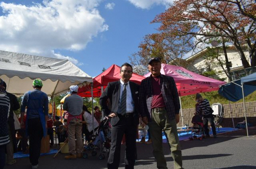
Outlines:
[[201, 96], [201, 94], [196, 93], [196, 102], [198, 102], [199, 106], [198, 106], [198, 110], [196, 111], [195, 114], [199, 114], [200, 112], [202, 112], [203, 123], [204, 123], [204, 132], [206, 134], [206, 137], [210, 137], [209, 129], [208, 129], [208, 122], [210, 122], [210, 125], [212, 127], [213, 136], [214, 136], [214, 138], [217, 138], [216, 128], [215, 128], [215, 124], [213, 121], [214, 117], [212, 115], [213, 110], [210, 106], [209, 101], [206, 98], [203, 98]]

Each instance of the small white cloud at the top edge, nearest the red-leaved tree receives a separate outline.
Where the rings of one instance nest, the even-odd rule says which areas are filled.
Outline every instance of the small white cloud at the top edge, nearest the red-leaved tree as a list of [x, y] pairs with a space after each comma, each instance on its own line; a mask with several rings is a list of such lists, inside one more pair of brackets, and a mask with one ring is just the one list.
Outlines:
[[153, 5], [164, 5], [166, 8], [172, 4], [174, 0], [128, 0], [137, 8], [149, 9]]

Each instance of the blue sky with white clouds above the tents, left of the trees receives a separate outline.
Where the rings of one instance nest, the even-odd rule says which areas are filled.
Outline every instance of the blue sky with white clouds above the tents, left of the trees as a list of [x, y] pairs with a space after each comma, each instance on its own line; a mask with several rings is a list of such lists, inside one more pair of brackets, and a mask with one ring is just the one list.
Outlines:
[[171, 0], [0, 0], [0, 50], [69, 59], [95, 77], [129, 62]]

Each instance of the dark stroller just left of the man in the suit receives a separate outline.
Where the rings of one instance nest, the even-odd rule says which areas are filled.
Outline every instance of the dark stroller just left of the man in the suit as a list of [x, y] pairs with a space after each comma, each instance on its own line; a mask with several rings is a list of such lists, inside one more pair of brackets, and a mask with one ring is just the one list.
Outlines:
[[100, 149], [99, 159], [104, 159], [104, 153], [109, 152], [111, 143], [111, 126], [109, 124], [110, 118], [104, 118], [96, 131], [96, 135], [92, 137], [92, 140], [88, 145], [84, 146], [83, 158], [88, 157], [86, 151], [92, 151], [92, 156], [97, 155], [96, 149]]

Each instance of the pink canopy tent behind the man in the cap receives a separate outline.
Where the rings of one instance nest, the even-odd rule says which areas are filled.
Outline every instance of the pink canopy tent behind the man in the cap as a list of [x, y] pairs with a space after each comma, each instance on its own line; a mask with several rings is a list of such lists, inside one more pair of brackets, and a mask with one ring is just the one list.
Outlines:
[[[186, 96], [200, 92], [210, 92], [218, 90], [220, 85], [226, 82], [218, 81], [209, 77], [198, 75], [194, 72], [188, 71], [183, 67], [174, 65], [167, 65], [162, 63], [161, 74], [171, 76], [177, 86], [179, 96]], [[150, 76], [151, 73], [144, 75]]]

